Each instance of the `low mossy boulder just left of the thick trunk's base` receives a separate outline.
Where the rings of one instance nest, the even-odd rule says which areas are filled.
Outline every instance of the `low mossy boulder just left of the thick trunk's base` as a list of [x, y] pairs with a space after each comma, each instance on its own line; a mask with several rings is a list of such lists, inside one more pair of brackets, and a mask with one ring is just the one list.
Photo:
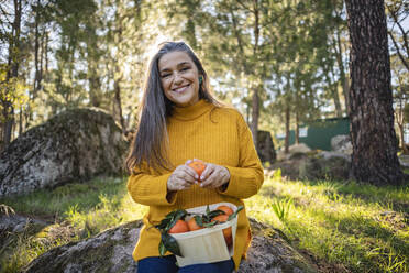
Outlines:
[[351, 160], [345, 156], [347, 155], [331, 152], [321, 152], [316, 156], [309, 156], [299, 165], [299, 178], [349, 179]]

